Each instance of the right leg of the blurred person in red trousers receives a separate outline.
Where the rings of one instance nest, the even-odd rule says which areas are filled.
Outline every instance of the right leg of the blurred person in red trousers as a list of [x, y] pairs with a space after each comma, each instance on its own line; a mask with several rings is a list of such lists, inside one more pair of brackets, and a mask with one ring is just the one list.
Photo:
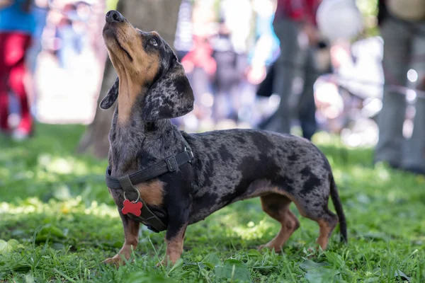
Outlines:
[[30, 106], [28, 96], [24, 86], [24, 78], [26, 76], [25, 54], [30, 47], [30, 35], [21, 33], [13, 33], [9, 38], [8, 46], [13, 48], [20, 56], [13, 60], [8, 76], [8, 86], [11, 91], [17, 96], [21, 105], [21, 122], [18, 125], [18, 132], [24, 135], [30, 134], [33, 128], [33, 117], [30, 114]]

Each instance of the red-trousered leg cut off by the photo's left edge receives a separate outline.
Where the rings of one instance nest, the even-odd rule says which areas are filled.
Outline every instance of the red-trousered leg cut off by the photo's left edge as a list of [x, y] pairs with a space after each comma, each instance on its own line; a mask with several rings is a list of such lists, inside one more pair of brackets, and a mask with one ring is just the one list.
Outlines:
[[0, 33], [0, 132], [8, 132], [8, 67], [6, 42], [8, 33]]

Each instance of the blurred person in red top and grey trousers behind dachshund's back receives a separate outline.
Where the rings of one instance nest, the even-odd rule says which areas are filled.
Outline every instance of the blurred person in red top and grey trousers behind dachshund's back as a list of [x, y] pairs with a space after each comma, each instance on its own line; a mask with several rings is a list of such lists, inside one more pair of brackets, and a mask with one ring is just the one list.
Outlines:
[[290, 132], [290, 98], [297, 72], [304, 84], [298, 99], [298, 118], [302, 136], [311, 139], [317, 130], [314, 82], [319, 76], [315, 52], [319, 43], [316, 13], [320, 0], [278, 0], [273, 29], [280, 40], [280, 56], [275, 63], [273, 93], [280, 96], [278, 110], [259, 125], [275, 132]]

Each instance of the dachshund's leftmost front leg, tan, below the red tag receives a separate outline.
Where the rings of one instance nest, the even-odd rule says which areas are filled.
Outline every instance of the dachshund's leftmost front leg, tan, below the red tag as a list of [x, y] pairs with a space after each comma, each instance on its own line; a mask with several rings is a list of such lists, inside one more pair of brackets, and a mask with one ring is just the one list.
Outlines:
[[[135, 250], [139, 243], [140, 223], [132, 221], [128, 216], [121, 216], [124, 226], [124, 245], [121, 250], [113, 256], [104, 260], [104, 263], [113, 264], [115, 266], [125, 265], [125, 260], [129, 260], [132, 250]], [[125, 258], [125, 260], [123, 259]]]

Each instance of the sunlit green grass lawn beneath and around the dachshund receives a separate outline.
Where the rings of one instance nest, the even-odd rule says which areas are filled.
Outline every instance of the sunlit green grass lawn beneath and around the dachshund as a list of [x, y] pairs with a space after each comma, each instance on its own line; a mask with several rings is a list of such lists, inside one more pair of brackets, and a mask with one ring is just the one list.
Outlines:
[[312, 250], [318, 226], [292, 206], [301, 227], [284, 253], [259, 252], [279, 225], [253, 199], [189, 226], [174, 267], [155, 267], [164, 232], [145, 228], [133, 262], [103, 265], [123, 243], [107, 162], [74, 154], [84, 127], [38, 126], [30, 141], [0, 137], [0, 282], [425, 282], [425, 179], [373, 168], [370, 149], [326, 135], [317, 144], [334, 168], [347, 246], [337, 228], [327, 251]]

